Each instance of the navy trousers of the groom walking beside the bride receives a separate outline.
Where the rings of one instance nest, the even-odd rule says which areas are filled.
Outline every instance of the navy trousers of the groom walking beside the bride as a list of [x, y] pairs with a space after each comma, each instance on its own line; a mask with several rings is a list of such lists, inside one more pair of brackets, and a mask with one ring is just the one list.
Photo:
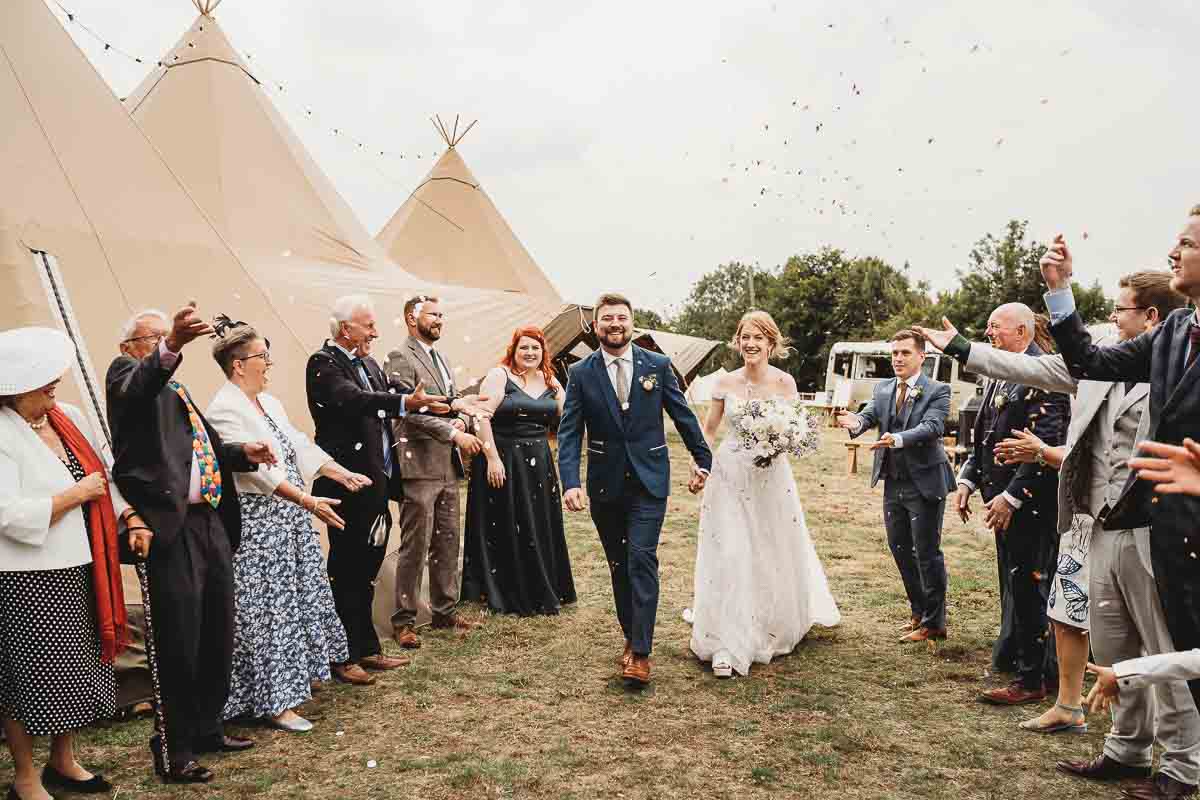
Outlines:
[[666, 511], [666, 498], [652, 495], [636, 477], [625, 479], [625, 488], [616, 501], [598, 503], [592, 498], [592, 522], [608, 559], [617, 619], [640, 656], [648, 656], [654, 645], [659, 534]]

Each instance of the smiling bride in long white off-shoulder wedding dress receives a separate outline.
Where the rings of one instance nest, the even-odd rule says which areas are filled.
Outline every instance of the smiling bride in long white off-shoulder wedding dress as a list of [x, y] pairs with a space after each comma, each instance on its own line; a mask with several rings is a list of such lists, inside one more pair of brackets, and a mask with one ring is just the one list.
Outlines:
[[[733, 413], [748, 399], [797, 397], [796, 380], [768, 363], [787, 355], [770, 314], [746, 313], [733, 345], [744, 366], [714, 387], [704, 422], [709, 443], [726, 407]], [[691, 650], [713, 663], [714, 675], [728, 678], [791, 652], [814, 624], [836, 625], [841, 614], [809, 537], [787, 457], [756, 467], [736, 435], [714, 451], [700, 507]]]

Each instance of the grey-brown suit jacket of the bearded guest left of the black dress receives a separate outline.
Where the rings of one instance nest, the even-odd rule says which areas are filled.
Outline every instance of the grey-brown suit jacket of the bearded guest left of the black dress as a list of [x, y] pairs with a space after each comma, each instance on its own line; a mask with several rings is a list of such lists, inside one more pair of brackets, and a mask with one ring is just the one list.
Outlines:
[[[425, 384], [431, 395], [455, 397], [454, 372], [445, 356], [438, 351], [450, 373], [450, 384], [442, 379], [440, 371], [413, 337], [404, 339], [398, 349], [388, 354], [388, 379], [406, 386]], [[469, 420], [466, 420], [469, 423]], [[455, 428], [450, 417], [430, 414], [407, 414], [392, 421], [396, 435], [396, 463], [404, 480], [455, 481], [463, 476], [462, 458], [454, 446]]]

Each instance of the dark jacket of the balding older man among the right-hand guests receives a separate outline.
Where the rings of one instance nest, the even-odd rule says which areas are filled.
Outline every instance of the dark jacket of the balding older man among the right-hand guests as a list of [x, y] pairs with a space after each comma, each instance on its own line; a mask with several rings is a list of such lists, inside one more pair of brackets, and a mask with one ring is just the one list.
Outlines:
[[[1030, 344], [1026, 355], [1043, 355], [1037, 344]], [[989, 380], [984, 402], [974, 423], [974, 446], [959, 473], [960, 480], [971, 481], [985, 503], [1008, 492], [1021, 503], [1014, 521], [1042, 522], [1057, 525], [1058, 473], [1040, 464], [1004, 465], [996, 461], [994, 447], [1012, 435], [1013, 431], [1028, 428], [1050, 447], [1067, 440], [1070, 425], [1070, 398], [1061, 392], [1022, 386], [1008, 381]], [[1003, 399], [997, 401], [1002, 397]], [[1033, 519], [1037, 517], [1037, 519]]]

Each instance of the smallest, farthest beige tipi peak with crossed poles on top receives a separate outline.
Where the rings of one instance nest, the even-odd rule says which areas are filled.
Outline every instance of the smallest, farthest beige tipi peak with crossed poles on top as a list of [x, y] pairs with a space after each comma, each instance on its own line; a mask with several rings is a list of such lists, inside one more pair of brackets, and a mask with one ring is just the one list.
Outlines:
[[434, 126], [446, 151], [376, 236], [397, 264], [428, 281], [562, 297], [458, 154], [474, 126]]

